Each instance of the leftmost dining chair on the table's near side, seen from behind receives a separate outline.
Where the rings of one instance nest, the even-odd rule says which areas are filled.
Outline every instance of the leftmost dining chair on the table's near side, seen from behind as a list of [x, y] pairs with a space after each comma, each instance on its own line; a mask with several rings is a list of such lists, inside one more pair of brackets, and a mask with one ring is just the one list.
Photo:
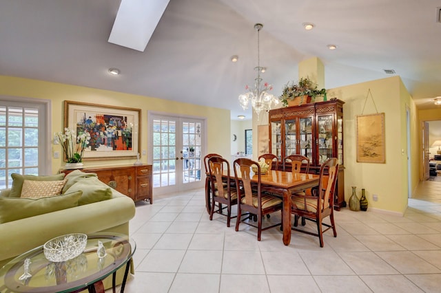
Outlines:
[[[208, 160], [208, 170], [209, 182], [212, 188], [209, 220], [212, 221], [214, 213], [225, 216], [222, 212], [227, 208], [227, 227], [229, 227], [230, 220], [235, 218], [232, 217], [232, 206], [237, 204], [238, 198], [236, 188], [230, 184], [229, 162], [224, 158], [214, 156]], [[224, 172], [227, 175], [226, 177]], [[218, 203], [218, 209], [214, 210], [216, 202]], [[223, 204], [225, 204], [224, 207]]]

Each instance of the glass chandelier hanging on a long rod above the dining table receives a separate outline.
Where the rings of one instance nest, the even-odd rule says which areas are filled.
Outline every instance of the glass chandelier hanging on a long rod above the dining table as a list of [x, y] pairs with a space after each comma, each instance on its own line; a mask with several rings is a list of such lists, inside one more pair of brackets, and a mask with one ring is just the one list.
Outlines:
[[272, 105], [277, 105], [279, 100], [273, 94], [269, 94], [269, 91], [273, 89], [272, 85], [263, 83], [260, 78], [260, 72], [265, 70], [265, 67], [260, 67], [260, 47], [259, 47], [259, 32], [263, 28], [263, 25], [256, 23], [254, 29], [257, 30], [257, 67], [254, 70], [257, 71], [257, 78], [254, 79], [254, 88], [249, 88], [248, 85], [245, 89], [248, 89], [246, 94], [239, 96], [239, 104], [243, 109], [248, 109], [249, 103], [251, 103], [254, 112], [259, 117], [260, 111], [269, 111]]

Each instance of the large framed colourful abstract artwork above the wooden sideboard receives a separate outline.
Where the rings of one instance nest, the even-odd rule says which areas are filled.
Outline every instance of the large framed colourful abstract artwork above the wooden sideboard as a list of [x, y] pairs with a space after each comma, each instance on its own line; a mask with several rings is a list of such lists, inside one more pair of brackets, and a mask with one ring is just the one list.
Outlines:
[[141, 109], [64, 101], [64, 127], [90, 133], [84, 160], [136, 158], [140, 125]]

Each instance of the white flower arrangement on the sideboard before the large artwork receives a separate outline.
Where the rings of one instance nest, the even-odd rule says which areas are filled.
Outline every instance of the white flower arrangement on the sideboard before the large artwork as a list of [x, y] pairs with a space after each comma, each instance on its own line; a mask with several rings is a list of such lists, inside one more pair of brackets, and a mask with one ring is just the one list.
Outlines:
[[57, 142], [63, 146], [63, 151], [68, 163], [83, 162], [83, 154], [85, 148], [89, 144], [90, 133], [84, 132], [76, 136], [72, 129], [65, 128], [64, 133], [55, 134]]

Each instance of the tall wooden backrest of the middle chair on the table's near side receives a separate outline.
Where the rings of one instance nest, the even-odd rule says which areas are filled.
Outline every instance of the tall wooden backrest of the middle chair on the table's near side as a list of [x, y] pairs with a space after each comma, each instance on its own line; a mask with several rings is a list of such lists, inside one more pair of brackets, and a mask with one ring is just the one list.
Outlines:
[[[253, 175], [252, 167], [256, 167], [258, 169], [257, 176], [257, 194], [260, 197], [260, 165], [258, 162], [249, 160], [247, 158], [239, 158], [234, 161], [233, 169], [234, 169], [234, 177], [236, 179], [237, 186], [237, 197], [241, 198], [243, 194], [245, 194], [245, 204], [247, 206], [253, 206], [253, 190], [251, 184], [251, 178]], [[260, 208], [260, 199], [258, 200], [258, 208]]]

